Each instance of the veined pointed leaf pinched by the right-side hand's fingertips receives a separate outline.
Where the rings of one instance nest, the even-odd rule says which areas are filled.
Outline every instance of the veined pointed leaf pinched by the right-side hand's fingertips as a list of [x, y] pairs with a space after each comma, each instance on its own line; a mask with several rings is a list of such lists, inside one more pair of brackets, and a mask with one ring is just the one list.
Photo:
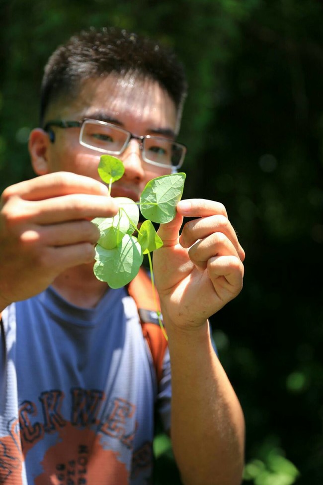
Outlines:
[[176, 214], [186, 174], [162, 175], [146, 185], [140, 197], [140, 210], [146, 219], [153, 222], [169, 222]]

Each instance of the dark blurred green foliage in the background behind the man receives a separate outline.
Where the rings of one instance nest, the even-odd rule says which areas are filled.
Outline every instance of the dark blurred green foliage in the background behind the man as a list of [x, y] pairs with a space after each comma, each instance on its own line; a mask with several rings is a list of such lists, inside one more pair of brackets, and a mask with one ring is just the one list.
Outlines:
[[[320, 0], [0, 1], [0, 192], [33, 177], [43, 66], [90, 25], [174, 47], [190, 91], [184, 196], [223, 202], [246, 251], [212, 318], [246, 419], [244, 484], [323, 484], [323, 5]], [[178, 484], [156, 441], [156, 483]]]

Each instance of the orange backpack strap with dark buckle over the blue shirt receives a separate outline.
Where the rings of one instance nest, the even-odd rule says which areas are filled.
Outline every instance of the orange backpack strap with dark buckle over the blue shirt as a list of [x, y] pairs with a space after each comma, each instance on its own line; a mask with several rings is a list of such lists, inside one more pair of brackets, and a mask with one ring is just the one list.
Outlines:
[[153, 357], [157, 382], [159, 383], [162, 377], [162, 362], [167, 348], [167, 340], [161, 331], [158, 320], [157, 311], [161, 311], [159, 296], [156, 292], [155, 301], [152, 282], [144, 268], [140, 268], [138, 275], [129, 283], [128, 293], [137, 305], [143, 334]]

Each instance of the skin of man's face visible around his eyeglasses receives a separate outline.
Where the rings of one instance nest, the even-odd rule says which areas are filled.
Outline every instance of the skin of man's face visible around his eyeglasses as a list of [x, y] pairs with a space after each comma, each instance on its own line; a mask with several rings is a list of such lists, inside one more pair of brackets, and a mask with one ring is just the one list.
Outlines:
[[[83, 118], [109, 121], [137, 136], [159, 135], [171, 139], [177, 125], [175, 104], [161, 86], [153, 80], [131, 76], [120, 79], [110, 75], [103, 79], [87, 80], [71, 104], [58, 102], [50, 107], [46, 121]], [[101, 154], [80, 145], [80, 128], [53, 127], [53, 130], [55, 142], [49, 144], [46, 152], [46, 171], [74, 172], [100, 180], [97, 166]], [[112, 196], [139, 200], [151, 179], [170, 173], [168, 168], [143, 161], [136, 139], [130, 140], [118, 158], [124, 163], [125, 173], [122, 179], [113, 184]]]

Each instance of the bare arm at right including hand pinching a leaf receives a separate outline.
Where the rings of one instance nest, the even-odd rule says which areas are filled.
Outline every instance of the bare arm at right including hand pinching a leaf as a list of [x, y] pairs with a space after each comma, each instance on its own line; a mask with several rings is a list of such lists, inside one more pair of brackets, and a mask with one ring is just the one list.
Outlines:
[[[239, 485], [244, 419], [207, 318], [242, 289], [244, 252], [222, 204], [192, 199], [159, 234], [154, 273], [172, 372], [171, 439], [185, 485]], [[182, 214], [188, 222], [179, 238]]]

